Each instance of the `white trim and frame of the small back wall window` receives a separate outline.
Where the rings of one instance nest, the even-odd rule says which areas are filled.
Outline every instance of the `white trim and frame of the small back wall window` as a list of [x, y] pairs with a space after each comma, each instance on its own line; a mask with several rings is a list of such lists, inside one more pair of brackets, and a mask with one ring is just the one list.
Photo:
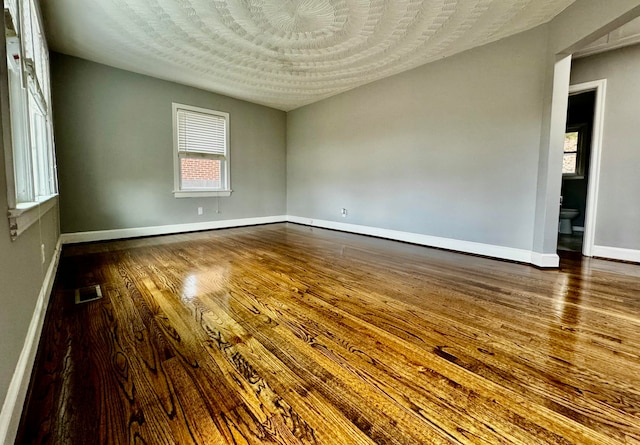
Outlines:
[[[203, 190], [182, 190], [180, 186], [180, 159], [181, 156], [178, 147], [178, 110], [194, 111], [197, 113], [211, 114], [224, 118], [226, 126], [225, 134], [225, 156], [224, 156], [224, 178], [225, 183], [221, 189], [203, 189]], [[230, 164], [230, 146], [229, 146], [229, 113], [224, 111], [212, 110], [209, 108], [195, 107], [177, 102], [172, 103], [172, 120], [173, 120], [173, 196], [175, 198], [202, 198], [202, 197], [227, 197], [231, 196], [231, 164]], [[219, 155], [207, 156], [203, 153], [194, 152], [194, 157], [205, 159], [220, 159]]]

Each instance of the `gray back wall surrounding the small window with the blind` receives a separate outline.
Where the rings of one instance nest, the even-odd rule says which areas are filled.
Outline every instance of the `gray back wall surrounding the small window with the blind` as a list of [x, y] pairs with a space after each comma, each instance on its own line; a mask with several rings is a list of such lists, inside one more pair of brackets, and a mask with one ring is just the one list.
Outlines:
[[[51, 75], [62, 232], [286, 213], [284, 112], [56, 53]], [[172, 102], [230, 113], [230, 197], [173, 197]]]

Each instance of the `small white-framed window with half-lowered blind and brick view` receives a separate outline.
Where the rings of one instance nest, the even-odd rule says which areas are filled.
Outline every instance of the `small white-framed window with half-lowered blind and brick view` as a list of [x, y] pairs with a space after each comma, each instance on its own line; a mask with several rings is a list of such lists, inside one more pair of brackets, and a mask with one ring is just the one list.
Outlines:
[[229, 196], [229, 114], [173, 104], [174, 195]]

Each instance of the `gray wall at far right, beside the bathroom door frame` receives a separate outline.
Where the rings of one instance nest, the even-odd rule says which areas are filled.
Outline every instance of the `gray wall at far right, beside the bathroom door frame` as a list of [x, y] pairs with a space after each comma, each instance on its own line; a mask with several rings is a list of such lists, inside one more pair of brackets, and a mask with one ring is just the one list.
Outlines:
[[640, 45], [573, 61], [571, 83], [607, 79], [595, 244], [640, 250]]

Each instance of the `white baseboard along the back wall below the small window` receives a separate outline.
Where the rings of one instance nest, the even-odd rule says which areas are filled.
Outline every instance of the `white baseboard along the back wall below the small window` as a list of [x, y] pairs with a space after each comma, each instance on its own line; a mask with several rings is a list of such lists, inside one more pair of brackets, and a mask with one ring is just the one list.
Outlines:
[[133, 227], [128, 229], [98, 230], [94, 232], [63, 233], [62, 244], [85, 243], [88, 241], [105, 241], [140, 236], [170, 235], [172, 233], [197, 232], [200, 230], [226, 229], [230, 227], [255, 226], [285, 222], [287, 217], [261, 216], [256, 218], [227, 219], [220, 221], [204, 221], [188, 224], [171, 224], [166, 226]]

